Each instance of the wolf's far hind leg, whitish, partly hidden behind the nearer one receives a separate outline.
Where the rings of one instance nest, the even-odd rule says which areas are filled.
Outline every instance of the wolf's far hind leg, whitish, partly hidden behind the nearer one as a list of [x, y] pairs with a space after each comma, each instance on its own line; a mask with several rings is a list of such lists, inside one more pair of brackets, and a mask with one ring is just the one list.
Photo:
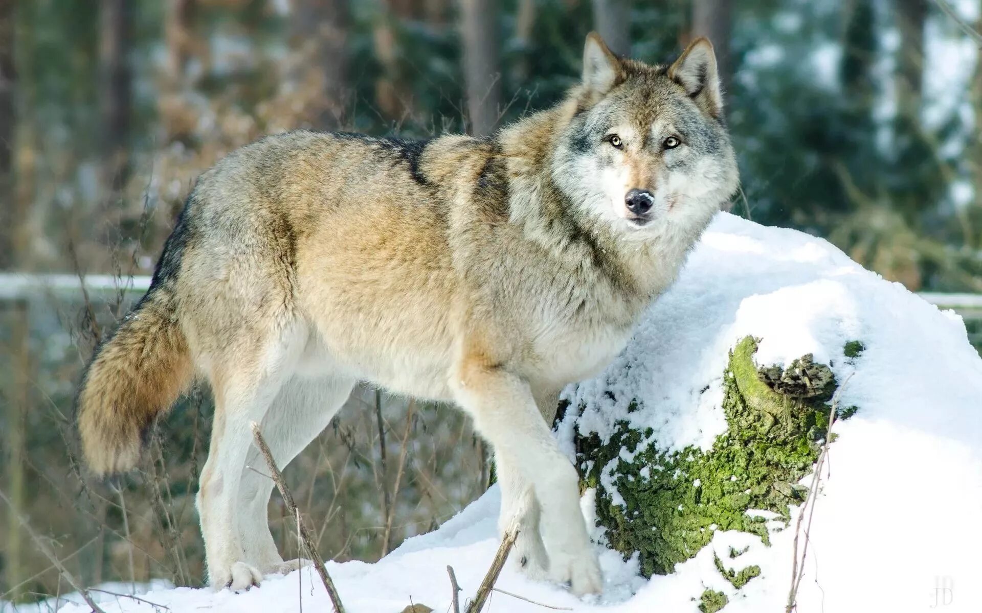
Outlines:
[[[283, 385], [260, 425], [263, 438], [283, 470], [330, 423], [348, 399], [355, 381], [339, 377], [301, 378]], [[265, 461], [249, 449], [239, 486], [239, 533], [246, 563], [263, 575], [285, 574], [300, 568], [302, 560], [284, 562], [269, 530], [269, 495], [274, 484], [265, 475]]]

